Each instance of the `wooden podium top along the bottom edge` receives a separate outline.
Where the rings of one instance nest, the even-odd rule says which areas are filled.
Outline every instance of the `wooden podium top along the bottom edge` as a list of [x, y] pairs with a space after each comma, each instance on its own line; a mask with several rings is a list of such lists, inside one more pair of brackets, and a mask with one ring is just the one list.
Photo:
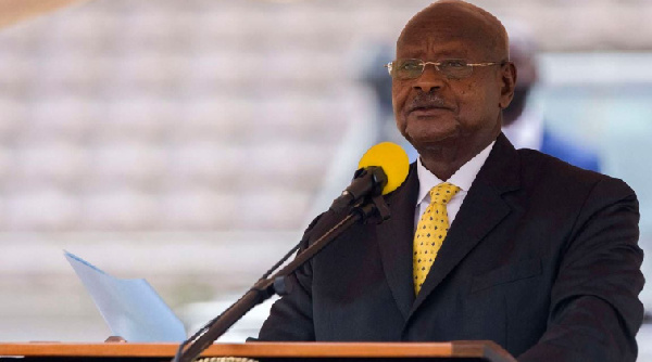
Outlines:
[[[177, 347], [176, 344], [129, 342], [0, 344], [0, 361], [170, 361]], [[516, 361], [492, 341], [215, 344], [201, 354], [201, 358], [211, 357], [259, 361]]]

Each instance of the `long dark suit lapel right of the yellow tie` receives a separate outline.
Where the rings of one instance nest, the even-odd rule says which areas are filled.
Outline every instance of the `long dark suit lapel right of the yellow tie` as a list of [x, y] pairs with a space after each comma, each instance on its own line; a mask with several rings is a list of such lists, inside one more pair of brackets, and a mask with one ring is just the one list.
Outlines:
[[510, 207], [502, 194], [517, 189], [518, 184], [518, 156], [512, 144], [501, 134], [471, 186], [410, 314], [418, 309], [464, 257], [510, 214]]

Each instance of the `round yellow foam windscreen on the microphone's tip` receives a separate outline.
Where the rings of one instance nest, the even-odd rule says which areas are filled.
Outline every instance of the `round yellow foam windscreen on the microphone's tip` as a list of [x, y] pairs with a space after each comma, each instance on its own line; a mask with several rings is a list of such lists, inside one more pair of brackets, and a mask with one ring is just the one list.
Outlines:
[[387, 184], [383, 189], [383, 195], [387, 195], [397, 190], [408, 178], [410, 159], [400, 145], [383, 142], [371, 147], [358, 164], [358, 168], [369, 166], [379, 166], [387, 174]]

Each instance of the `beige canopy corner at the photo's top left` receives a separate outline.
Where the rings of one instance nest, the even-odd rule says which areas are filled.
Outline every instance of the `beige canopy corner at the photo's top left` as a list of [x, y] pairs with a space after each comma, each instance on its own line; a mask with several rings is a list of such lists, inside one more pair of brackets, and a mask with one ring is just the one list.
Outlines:
[[0, 29], [87, 0], [0, 0]]

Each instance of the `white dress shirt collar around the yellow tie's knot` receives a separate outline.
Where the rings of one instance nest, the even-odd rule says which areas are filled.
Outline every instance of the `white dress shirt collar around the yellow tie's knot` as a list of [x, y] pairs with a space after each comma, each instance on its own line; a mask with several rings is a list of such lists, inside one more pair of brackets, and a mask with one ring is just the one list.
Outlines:
[[464, 198], [468, 193], [468, 189], [471, 189], [471, 185], [473, 184], [476, 176], [478, 176], [480, 168], [482, 165], [485, 165], [485, 161], [487, 160], [487, 157], [489, 157], [489, 153], [491, 153], [491, 148], [493, 148], [494, 143], [496, 141], [491, 142], [490, 145], [488, 145], [475, 157], [469, 159], [466, 164], [462, 165], [462, 167], [460, 167], [460, 169], [446, 181], [439, 180], [438, 177], [428, 171], [428, 169], [422, 164], [421, 157], [417, 158], [416, 174], [418, 176], [418, 197], [416, 198], [416, 210], [414, 212], [415, 230], [421, 216], [426, 211], [428, 205], [430, 205], [430, 189], [442, 182], [449, 182], [460, 188], [460, 192], [447, 204], [449, 223], [451, 225], [453, 224], [455, 216], [457, 216], [457, 211], [460, 211], [460, 207], [462, 206], [462, 202], [464, 202]]

